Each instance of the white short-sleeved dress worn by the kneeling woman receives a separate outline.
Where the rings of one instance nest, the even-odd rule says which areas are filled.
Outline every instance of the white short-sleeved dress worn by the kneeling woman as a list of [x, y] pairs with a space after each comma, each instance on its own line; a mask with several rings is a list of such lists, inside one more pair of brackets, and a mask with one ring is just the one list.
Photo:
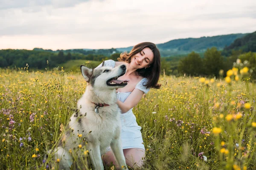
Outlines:
[[[102, 64], [100, 64], [98, 67], [101, 67]], [[104, 66], [108, 67], [115, 67], [115, 61], [112, 59], [104, 61]], [[148, 80], [146, 78], [143, 78], [140, 80], [140, 82], [137, 83], [136, 87], [140, 91], [143, 91], [145, 94], [148, 93], [150, 88], [146, 88], [143, 86], [146, 84]], [[127, 97], [131, 94], [131, 92], [117, 92], [117, 99], [119, 99], [121, 102], [125, 102]], [[128, 112], [122, 113], [120, 115], [121, 118], [121, 124], [122, 124], [122, 130], [121, 130], [121, 139], [122, 139], [122, 148], [128, 149], [128, 148], [141, 148], [145, 150], [143, 139], [141, 135], [141, 127], [136, 122], [136, 117], [134, 113], [132, 112], [131, 108]], [[110, 150], [110, 147], [108, 148]]]

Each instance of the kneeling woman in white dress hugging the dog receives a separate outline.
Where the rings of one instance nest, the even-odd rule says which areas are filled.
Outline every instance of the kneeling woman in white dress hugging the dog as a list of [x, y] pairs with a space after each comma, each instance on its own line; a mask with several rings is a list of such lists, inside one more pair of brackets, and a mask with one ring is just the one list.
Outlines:
[[[118, 79], [130, 80], [124, 88], [117, 89], [117, 104], [122, 111], [122, 147], [126, 164], [135, 169], [141, 168], [145, 158], [145, 147], [143, 144], [141, 127], [136, 122], [132, 108], [136, 106], [143, 94], [148, 93], [150, 88], [160, 88], [157, 84], [160, 76], [160, 52], [152, 42], [142, 42], [132, 48], [131, 52], [122, 53], [119, 62], [106, 60], [103, 65], [112, 68], [125, 64], [126, 73]], [[102, 65], [99, 65], [100, 67]], [[113, 162], [117, 165], [111, 149], [103, 156], [107, 164]]]

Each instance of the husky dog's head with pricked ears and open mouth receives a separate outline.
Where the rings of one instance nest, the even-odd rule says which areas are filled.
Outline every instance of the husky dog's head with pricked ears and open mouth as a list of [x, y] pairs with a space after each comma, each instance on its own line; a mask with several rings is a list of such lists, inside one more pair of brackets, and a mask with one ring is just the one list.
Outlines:
[[118, 80], [118, 77], [121, 77], [125, 74], [126, 66], [119, 65], [116, 68], [111, 67], [100, 67], [97, 69], [90, 69], [81, 65], [81, 73], [84, 79], [91, 85], [93, 88], [122, 88], [127, 85], [129, 80]]

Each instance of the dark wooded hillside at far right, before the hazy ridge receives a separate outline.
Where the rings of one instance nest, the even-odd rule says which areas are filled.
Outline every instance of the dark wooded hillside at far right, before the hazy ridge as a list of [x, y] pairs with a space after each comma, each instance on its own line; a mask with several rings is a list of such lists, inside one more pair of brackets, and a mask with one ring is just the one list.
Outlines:
[[231, 51], [233, 50], [241, 50], [243, 52], [256, 52], [256, 31], [236, 39], [233, 43], [224, 48], [223, 53], [228, 55], [231, 54]]

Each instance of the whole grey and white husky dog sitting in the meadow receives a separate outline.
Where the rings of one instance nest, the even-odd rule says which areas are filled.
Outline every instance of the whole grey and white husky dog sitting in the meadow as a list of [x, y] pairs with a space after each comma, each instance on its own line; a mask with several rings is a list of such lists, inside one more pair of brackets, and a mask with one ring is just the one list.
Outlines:
[[[59, 169], [70, 169], [73, 164], [70, 151], [72, 152], [73, 148], [77, 148], [79, 144], [81, 144], [80, 147], [85, 146], [89, 151], [94, 169], [103, 170], [101, 156], [109, 146], [113, 150], [119, 167], [126, 169], [120, 136], [121, 113], [116, 103], [116, 88], [125, 87], [128, 82], [128, 80], [117, 80], [125, 74], [125, 71], [125, 65], [116, 68], [103, 66], [94, 70], [81, 65], [81, 73], [88, 85], [77, 102], [78, 109], [71, 116], [58, 147], [53, 151], [54, 159], [58, 159]], [[80, 150], [76, 154], [82, 158], [84, 150]], [[77, 168], [85, 168], [79, 167], [79, 163], [81, 161], [76, 162]]]

